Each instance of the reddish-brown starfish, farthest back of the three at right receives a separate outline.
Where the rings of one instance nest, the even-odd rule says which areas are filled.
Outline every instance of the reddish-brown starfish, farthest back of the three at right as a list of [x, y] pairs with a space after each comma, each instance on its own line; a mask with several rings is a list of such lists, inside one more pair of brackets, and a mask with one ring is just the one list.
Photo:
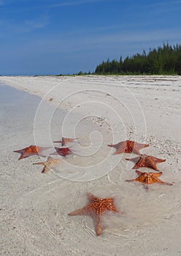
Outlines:
[[121, 154], [121, 153], [140, 154], [139, 149], [145, 148], [149, 145], [136, 143], [133, 140], [126, 140], [126, 141], [120, 141], [120, 143], [117, 143], [115, 145], [110, 144], [108, 146], [116, 148], [116, 151], [114, 154]]

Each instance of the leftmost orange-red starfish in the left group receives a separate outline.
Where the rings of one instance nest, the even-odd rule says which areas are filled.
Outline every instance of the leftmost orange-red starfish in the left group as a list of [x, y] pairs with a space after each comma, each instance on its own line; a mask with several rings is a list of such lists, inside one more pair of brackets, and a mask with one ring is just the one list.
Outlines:
[[39, 147], [39, 146], [31, 145], [31, 146], [28, 146], [28, 147], [20, 149], [20, 150], [15, 150], [13, 152], [20, 153], [20, 158], [18, 159], [18, 160], [20, 160], [20, 159], [30, 157], [30, 156], [34, 156], [34, 155], [39, 155], [41, 157], [45, 157], [45, 155], [42, 154], [42, 151], [44, 151], [48, 148], [50, 148], [50, 147], [42, 148], [42, 147]]

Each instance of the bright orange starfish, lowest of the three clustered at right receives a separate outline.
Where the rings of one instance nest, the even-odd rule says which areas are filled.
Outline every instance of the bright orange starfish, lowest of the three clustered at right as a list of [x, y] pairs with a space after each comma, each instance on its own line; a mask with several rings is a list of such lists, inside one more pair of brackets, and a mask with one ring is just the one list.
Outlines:
[[[136, 170], [136, 173], [138, 174], [137, 178], [126, 180], [126, 181], [138, 181], [145, 184], [153, 184], [153, 183], [160, 183], [172, 186], [172, 183], [161, 181], [158, 177], [161, 176], [162, 172], [159, 173], [142, 173], [139, 170]], [[145, 187], [145, 189], [148, 189], [148, 187]]]

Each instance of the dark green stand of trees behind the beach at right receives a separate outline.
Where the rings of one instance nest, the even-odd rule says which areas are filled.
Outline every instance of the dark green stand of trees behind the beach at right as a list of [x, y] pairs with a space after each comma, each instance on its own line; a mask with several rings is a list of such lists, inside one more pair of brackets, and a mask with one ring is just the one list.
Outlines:
[[[181, 75], [181, 45], [164, 43], [162, 47], [145, 50], [119, 61], [102, 61], [96, 75]], [[80, 74], [78, 74], [80, 75]]]

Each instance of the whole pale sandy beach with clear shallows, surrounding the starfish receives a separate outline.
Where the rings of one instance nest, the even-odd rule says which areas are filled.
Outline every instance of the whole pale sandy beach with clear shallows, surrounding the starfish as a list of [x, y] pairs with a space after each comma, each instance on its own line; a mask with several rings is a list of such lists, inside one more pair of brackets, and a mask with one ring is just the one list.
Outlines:
[[[180, 91], [180, 76], [0, 77], [0, 255], [181, 255]], [[73, 154], [41, 173], [33, 163], [62, 136], [77, 138]], [[126, 182], [136, 155], [107, 146], [123, 140], [166, 159], [160, 178], [173, 185]], [[50, 150], [18, 161], [13, 151], [30, 145]], [[90, 217], [68, 215], [88, 192], [119, 211], [104, 214], [101, 236]]]

